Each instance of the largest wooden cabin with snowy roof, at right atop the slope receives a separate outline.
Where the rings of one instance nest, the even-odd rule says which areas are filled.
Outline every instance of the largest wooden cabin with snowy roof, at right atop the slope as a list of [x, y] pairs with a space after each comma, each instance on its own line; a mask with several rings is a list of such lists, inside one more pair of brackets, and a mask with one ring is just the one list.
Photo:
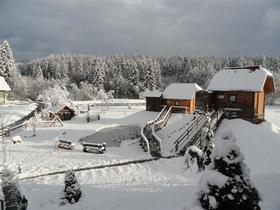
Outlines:
[[266, 95], [275, 92], [273, 75], [260, 66], [218, 71], [207, 88], [214, 109], [238, 111], [238, 117], [263, 120]]

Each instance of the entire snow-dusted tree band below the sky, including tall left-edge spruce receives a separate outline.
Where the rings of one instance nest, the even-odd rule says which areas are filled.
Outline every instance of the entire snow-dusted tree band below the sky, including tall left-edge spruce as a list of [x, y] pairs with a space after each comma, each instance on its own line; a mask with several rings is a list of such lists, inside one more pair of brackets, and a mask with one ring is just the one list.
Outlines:
[[48, 100], [54, 95], [63, 95], [65, 100], [137, 99], [146, 90], [162, 90], [174, 82], [194, 82], [206, 88], [216, 71], [252, 65], [271, 70], [279, 89], [277, 57], [55, 54], [16, 63], [8, 41], [0, 45], [0, 76], [12, 89], [10, 99], [22, 100]]

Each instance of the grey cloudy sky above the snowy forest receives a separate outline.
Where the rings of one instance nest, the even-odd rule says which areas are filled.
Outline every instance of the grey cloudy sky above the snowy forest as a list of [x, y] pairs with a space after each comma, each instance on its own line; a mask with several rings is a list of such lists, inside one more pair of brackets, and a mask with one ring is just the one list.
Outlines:
[[0, 0], [0, 41], [50, 53], [280, 55], [279, 0]]

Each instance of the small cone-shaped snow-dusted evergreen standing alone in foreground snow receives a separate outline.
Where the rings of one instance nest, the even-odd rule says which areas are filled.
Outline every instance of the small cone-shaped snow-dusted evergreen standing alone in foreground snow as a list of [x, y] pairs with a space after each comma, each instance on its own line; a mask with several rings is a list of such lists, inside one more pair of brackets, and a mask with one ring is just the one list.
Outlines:
[[64, 183], [65, 188], [61, 198], [61, 205], [64, 205], [66, 202], [71, 204], [78, 202], [82, 196], [82, 191], [73, 170], [68, 170], [65, 173]]

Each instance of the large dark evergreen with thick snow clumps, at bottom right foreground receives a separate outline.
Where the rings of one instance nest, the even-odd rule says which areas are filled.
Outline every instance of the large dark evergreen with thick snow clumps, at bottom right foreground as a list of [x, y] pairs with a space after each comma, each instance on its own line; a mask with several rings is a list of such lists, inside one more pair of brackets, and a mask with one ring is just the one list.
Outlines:
[[259, 194], [231, 133], [216, 139], [211, 159], [200, 180], [201, 206], [208, 210], [259, 210]]

